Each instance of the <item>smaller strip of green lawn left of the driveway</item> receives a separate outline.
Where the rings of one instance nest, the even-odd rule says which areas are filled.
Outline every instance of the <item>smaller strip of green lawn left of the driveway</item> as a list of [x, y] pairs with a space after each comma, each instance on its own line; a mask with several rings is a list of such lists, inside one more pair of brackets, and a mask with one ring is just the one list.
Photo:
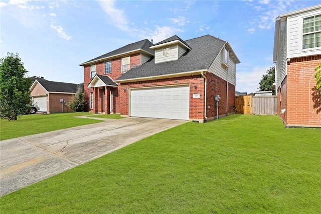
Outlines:
[[102, 121], [74, 118], [92, 113], [62, 113], [50, 115], [22, 115], [17, 121], [0, 120], [0, 140], [67, 129]]

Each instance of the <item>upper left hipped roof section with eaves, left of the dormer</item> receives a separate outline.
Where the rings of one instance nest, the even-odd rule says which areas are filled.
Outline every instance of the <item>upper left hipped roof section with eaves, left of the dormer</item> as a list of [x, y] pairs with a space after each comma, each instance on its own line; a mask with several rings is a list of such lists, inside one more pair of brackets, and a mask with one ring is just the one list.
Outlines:
[[80, 65], [84, 66], [84, 65], [95, 64], [98, 61], [104, 61], [107, 59], [118, 58], [118, 57], [120, 57], [122, 55], [126, 55], [128, 53], [133, 54], [134, 52], [137, 52], [137, 53], [144, 52], [148, 55], [153, 56], [154, 51], [149, 49], [149, 47], [152, 45], [153, 44], [149, 40], [144, 39], [144, 40], [141, 40], [138, 42], [131, 43], [129, 45], [125, 45], [125, 46], [118, 48], [114, 51], [111, 51], [111, 52], [106, 53], [104, 55], [93, 58], [87, 62], [81, 63]]

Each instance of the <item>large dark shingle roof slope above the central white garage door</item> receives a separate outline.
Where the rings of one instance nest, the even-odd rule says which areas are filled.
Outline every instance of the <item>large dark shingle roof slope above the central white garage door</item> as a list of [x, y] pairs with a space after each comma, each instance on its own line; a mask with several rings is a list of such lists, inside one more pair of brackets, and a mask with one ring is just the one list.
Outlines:
[[191, 50], [187, 51], [178, 60], [155, 64], [154, 59], [152, 59], [140, 67], [130, 69], [116, 80], [209, 69], [226, 43], [210, 35], [190, 39], [185, 42], [191, 47]]

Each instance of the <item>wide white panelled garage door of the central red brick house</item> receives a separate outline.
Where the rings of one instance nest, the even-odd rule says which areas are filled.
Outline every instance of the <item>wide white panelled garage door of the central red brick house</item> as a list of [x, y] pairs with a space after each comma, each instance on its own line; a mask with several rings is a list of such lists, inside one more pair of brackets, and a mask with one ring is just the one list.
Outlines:
[[189, 120], [190, 87], [132, 89], [130, 110], [132, 117]]

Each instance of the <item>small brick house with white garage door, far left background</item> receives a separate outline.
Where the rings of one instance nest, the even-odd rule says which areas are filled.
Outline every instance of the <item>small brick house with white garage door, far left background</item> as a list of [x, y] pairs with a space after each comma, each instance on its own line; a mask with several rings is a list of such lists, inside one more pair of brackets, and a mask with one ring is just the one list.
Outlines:
[[[40, 107], [38, 112], [74, 112], [68, 103], [76, 93], [79, 84], [53, 82], [41, 77], [31, 77], [34, 82], [30, 88], [31, 98]], [[80, 84], [83, 87], [83, 84]]]

